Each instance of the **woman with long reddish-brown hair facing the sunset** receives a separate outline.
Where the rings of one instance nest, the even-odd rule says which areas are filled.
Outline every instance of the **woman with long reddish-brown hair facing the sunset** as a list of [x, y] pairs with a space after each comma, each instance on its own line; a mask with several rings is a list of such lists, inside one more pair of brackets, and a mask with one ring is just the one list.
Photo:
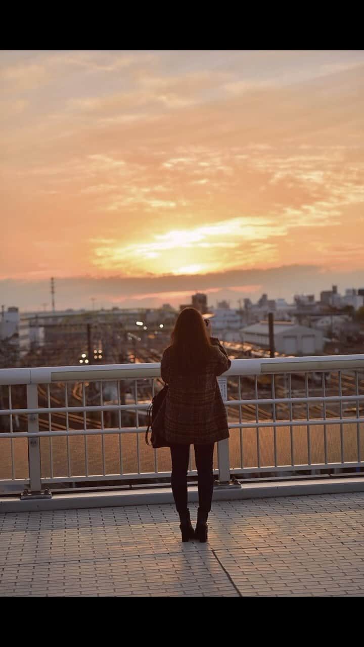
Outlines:
[[[172, 456], [172, 492], [182, 541], [207, 541], [211, 509], [214, 444], [229, 437], [227, 415], [216, 380], [231, 366], [218, 338], [211, 337], [209, 320], [194, 308], [185, 308], [172, 332], [172, 344], [161, 361], [161, 377], [168, 384], [164, 435]], [[190, 444], [198, 471], [198, 518], [192, 528], [187, 507], [187, 470]]]

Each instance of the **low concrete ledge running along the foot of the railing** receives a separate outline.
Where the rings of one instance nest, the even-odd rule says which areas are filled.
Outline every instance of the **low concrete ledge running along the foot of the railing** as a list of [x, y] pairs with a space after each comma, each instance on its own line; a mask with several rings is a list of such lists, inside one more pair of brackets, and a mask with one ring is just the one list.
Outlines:
[[[275, 496], [302, 496], [304, 494], [336, 494], [339, 492], [364, 492], [364, 478], [330, 478], [313, 481], [280, 481], [244, 483], [239, 489], [214, 490], [214, 501], [255, 499]], [[188, 488], [188, 501], [198, 501], [196, 486]], [[151, 505], [174, 503], [172, 490], [168, 487], [113, 490], [111, 492], [74, 492], [54, 494], [51, 499], [21, 501], [16, 497], [0, 499], [0, 514], [3, 512], [30, 512], [42, 510], [74, 510], [80, 508], [117, 507], [119, 505]]]

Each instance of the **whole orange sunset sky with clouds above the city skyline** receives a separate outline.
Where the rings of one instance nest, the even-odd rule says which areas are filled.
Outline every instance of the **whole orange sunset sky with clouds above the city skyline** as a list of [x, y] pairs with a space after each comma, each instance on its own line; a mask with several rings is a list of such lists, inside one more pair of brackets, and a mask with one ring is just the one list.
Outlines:
[[363, 50], [3, 50], [1, 303], [364, 287]]

